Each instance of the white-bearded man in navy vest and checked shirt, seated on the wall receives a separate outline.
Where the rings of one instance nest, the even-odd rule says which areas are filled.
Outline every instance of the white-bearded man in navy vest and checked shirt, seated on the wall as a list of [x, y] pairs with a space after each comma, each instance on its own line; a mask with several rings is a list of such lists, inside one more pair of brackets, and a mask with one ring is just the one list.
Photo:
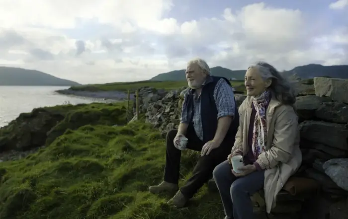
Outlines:
[[181, 208], [206, 183], [218, 164], [227, 159], [239, 127], [239, 114], [228, 79], [210, 75], [207, 63], [194, 59], [187, 63], [186, 79], [191, 88], [184, 96], [177, 130], [167, 134], [164, 181], [150, 186], [160, 193], [178, 190], [181, 150], [180, 138], [188, 139], [186, 148], [201, 151], [192, 176], [168, 202]]

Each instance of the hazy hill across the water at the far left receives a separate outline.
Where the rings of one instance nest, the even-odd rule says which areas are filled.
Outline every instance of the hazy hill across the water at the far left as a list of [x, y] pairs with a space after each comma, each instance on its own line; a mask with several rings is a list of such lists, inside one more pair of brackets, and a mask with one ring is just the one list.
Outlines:
[[0, 86], [74, 86], [78, 82], [62, 79], [36, 70], [0, 67]]

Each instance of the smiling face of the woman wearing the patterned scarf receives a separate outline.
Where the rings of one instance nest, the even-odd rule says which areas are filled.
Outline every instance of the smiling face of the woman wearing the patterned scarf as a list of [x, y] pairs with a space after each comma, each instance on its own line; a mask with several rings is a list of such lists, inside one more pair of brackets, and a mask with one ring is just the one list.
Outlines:
[[263, 80], [257, 68], [249, 68], [244, 77], [244, 85], [248, 96], [259, 96], [271, 84], [271, 79]]

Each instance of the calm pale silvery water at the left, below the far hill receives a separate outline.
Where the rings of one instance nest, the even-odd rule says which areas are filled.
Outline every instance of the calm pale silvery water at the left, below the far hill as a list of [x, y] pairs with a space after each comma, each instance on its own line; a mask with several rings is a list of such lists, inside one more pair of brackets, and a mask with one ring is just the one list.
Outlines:
[[55, 90], [67, 89], [64, 86], [0, 86], [0, 127], [18, 117], [20, 113], [31, 112], [43, 106], [66, 103], [79, 104], [105, 102], [101, 99], [66, 96]]

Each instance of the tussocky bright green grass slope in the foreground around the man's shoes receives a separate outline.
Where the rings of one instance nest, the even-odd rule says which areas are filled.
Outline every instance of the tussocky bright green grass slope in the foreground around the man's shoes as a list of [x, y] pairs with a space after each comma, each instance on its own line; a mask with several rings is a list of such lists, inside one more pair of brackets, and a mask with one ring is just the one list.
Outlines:
[[[143, 121], [68, 129], [50, 146], [0, 163], [1, 219], [219, 219], [218, 194], [204, 186], [177, 210], [170, 194], [147, 191], [163, 176], [165, 141]], [[182, 154], [181, 180], [196, 153]]]

